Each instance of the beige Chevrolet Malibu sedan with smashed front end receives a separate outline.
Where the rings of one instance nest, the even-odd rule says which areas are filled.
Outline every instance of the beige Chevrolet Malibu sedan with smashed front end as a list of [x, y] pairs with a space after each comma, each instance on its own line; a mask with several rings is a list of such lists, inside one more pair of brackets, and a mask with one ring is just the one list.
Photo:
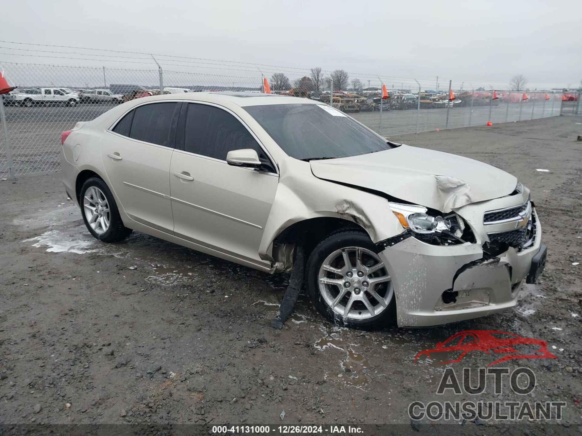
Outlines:
[[349, 327], [489, 315], [545, 265], [516, 177], [387, 141], [311, 99], [140, 98], [61, 140], [66, 193], [98, 240], [137, 230], [271, 274], [305, 258], [315, 306]]

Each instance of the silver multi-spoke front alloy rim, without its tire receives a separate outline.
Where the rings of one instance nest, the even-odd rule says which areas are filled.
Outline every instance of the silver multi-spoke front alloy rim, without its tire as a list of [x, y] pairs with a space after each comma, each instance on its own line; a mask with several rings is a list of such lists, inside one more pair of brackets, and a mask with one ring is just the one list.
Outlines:
[[394, 294], [384, 263], [376, 253], [361, 247], [341, 248], [327, 256], [318, 282], [320, 294], [333, 312], [354, 320], [384, 312]]

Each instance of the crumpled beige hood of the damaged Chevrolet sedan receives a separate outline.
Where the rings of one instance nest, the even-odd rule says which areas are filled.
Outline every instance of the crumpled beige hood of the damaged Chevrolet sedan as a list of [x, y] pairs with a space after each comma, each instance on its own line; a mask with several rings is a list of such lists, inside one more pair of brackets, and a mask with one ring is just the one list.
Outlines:
[[487, 163], [410, 145], [310, 164], [315, 177], [385, 192], [445, 213], [511, 194], [517, 184], [515, 176]]

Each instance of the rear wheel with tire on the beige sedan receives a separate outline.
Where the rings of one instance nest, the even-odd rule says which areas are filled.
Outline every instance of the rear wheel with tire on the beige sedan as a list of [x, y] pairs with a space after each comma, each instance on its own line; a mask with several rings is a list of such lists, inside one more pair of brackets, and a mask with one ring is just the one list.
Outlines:
[[111, 190], [98, 177], [88, 178], [81, 187], [81, 215], [87, 230], [100, 241], [119, 242], [132, 233], [123, 226]]

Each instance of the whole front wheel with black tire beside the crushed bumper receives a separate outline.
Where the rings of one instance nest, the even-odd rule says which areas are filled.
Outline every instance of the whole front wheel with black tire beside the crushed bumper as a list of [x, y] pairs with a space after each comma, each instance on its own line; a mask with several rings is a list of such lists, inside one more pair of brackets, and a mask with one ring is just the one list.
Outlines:
[[329, 321], [361, 330], [394, 323], [393, 285], [378, 252], [357, 229], [337, 231], [315, 246], [307, 260], [307, 291]]

